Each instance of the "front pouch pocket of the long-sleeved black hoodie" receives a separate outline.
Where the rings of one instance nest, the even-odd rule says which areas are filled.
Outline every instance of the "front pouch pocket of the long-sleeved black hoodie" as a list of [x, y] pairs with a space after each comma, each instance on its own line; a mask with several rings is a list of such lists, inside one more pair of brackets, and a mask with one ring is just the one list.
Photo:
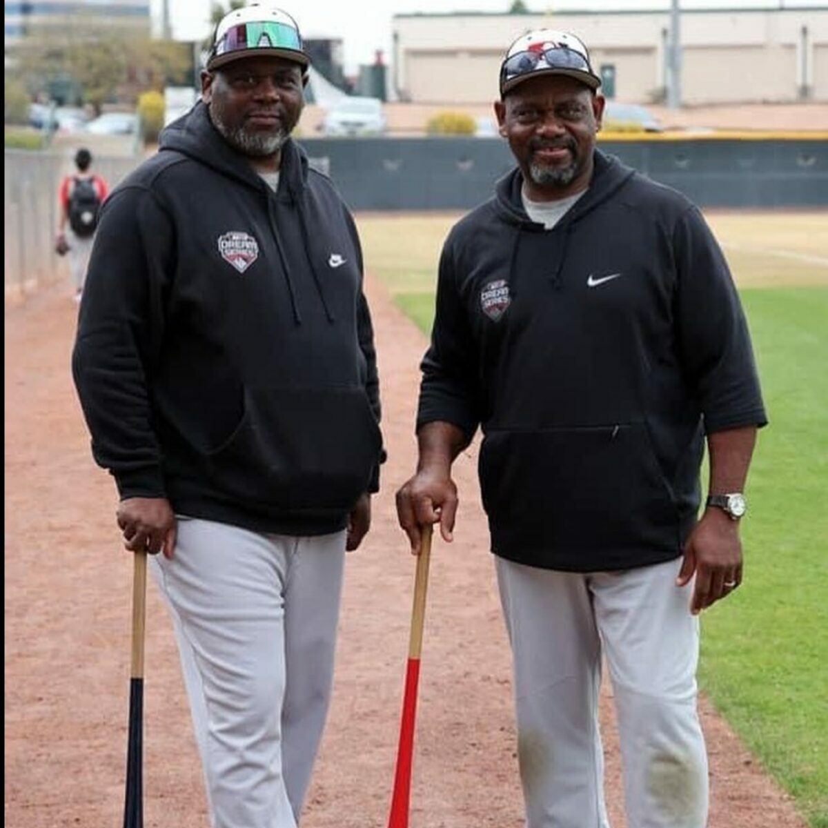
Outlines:
[[227, 498], [291, 511], [349, 510], [382, 437], [363, 388], [245, 388], [227, 440], [206, 456]]

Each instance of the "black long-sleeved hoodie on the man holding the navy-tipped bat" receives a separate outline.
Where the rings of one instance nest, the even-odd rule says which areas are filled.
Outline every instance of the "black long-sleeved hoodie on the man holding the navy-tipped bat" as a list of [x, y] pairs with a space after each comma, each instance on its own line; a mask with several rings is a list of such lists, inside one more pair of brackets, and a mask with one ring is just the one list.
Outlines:
[[277, 193], [199, 103], [109, 197], [73, 369], [122, 498], [262, 532], [344, 527], [383, 455], [354, 221], [304, 153]]

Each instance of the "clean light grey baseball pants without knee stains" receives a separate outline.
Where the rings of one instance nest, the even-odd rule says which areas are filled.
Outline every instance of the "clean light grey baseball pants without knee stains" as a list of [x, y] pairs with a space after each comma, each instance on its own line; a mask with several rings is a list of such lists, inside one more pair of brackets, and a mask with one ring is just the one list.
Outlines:
[[214, 828], [296, 828], [325, 725], [345, 532], [179, 517], [171, 608]]

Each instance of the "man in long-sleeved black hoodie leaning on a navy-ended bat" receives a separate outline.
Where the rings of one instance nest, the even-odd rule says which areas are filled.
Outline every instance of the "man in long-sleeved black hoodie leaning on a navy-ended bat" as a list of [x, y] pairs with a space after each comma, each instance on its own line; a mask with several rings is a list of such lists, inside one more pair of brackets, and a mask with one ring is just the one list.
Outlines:
[[296, 826], [383, 459], [359, 238], [289, 137], [308, 64], [285, 12], [219, 23], [103, 209], [73, 360], [127, 549], [163, 551], [214, 828]]

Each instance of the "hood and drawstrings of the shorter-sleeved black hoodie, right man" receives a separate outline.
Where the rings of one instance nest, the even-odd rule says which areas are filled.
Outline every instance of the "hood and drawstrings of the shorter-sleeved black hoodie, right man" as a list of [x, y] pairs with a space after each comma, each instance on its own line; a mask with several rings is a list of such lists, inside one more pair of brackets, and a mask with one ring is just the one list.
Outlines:
[[[604, 155], [603, 152], [593, 152], [594, 169], [589, 189], [575, 202], [561, 221], [549, 233], [556, 233], [556, 244], [551, 245], [550, 278], [554, 286], [561, 286], [561, 271], [566, 262], [567, 248], [569, 247], [572, 228], [586, 214], [589, 214], [604, 201], [609, 199], [616, 190], [619, 190], [630, 178], [635, 175], [632, 167], [621, 163], [614, 156]], [[523, 209], [521, 190], [523, 174], [519, 167], [515, 167], [501, 178], [495, 186], [494, 209], [498, 217], [514, 228], [514, 240], [511, 256], [509, 257], [508, 282], [512, 295], [517, 295], [517, 251], [523, 233], [544, 233], [541, 224], [535, 224]], [[561, 238], [562, 237], [562, 238]]]

